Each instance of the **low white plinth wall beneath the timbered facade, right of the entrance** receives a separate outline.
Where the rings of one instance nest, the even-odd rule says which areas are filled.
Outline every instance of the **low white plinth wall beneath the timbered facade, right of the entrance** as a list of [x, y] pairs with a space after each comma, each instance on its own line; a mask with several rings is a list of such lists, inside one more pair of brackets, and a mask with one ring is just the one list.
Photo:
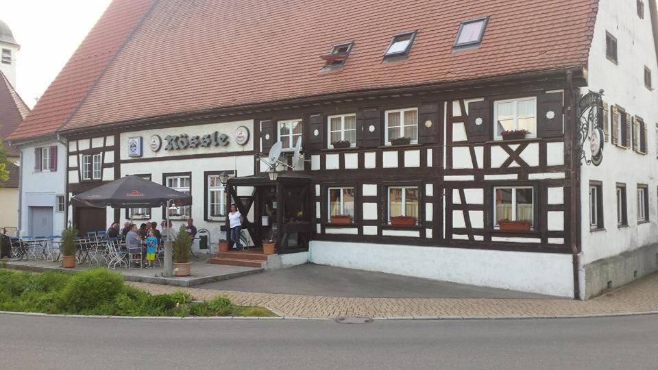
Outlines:
[[560, 297], [574, 292], [571, 256], [565, 254], [313, 240], [308, 260]]

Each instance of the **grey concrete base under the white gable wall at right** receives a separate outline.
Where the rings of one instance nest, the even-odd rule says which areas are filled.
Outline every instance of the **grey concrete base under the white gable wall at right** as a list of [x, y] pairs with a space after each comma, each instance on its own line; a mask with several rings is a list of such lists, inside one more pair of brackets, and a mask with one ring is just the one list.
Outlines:
[[[589, 299], [658, 271], [658, 243], [586, 264], [585, 292]], [[610, 286], [608, 285], [610, 284]]]

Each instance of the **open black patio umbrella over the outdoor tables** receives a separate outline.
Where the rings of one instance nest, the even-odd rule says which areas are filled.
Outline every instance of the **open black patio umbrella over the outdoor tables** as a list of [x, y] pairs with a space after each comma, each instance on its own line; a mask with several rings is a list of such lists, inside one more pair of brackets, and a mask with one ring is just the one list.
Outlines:
[[126, 176], [73, 197], [86, 206], [96, 208], [156, 208], [168, 206], [190, 206], [191, 195], [144, 180], [139, 176]]

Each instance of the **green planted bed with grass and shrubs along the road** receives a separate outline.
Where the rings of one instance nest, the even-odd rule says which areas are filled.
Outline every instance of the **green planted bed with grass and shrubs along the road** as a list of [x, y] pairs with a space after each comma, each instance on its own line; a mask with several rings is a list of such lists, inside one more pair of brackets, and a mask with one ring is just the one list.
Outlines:
[[0, 310], [112, 316], [260, 316], [263, 307], [235, 306], [227, 297], [193, 301], [185, 291], [151, 295], [123, 284], [123, 276], [97, 268], [78, 273], [0, 269]]

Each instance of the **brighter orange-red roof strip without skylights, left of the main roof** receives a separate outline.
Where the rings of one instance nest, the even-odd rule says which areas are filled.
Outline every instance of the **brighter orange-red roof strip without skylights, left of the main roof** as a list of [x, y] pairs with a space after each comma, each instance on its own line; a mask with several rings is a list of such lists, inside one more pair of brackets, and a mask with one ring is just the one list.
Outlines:
[[153, 1], [112, 1], [10, 139], [55, 132], [74, 112]]

